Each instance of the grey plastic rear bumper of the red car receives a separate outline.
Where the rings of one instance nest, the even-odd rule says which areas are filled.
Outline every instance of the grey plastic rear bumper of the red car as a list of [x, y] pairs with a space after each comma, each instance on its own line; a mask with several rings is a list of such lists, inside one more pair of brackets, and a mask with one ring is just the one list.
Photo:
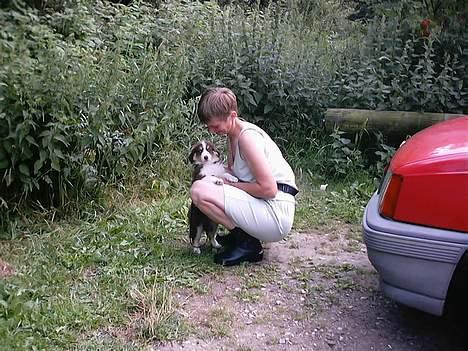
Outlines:
[[385, 219], [374, 194], [364, 212], [363, 236], [382, 291], [404, 305], [442, 315], [468, 235]]

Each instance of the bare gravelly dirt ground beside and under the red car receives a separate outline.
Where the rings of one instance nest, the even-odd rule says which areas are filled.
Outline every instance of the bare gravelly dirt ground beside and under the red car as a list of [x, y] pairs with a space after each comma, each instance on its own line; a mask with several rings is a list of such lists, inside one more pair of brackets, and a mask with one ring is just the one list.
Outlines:
[[150, 350], [468, 350], [460, 316], [398, 306], [349, 225], [292, 233], [266, 245], [260, 264], [206, 279], [206, 293], [177, 295], [190, 338]]

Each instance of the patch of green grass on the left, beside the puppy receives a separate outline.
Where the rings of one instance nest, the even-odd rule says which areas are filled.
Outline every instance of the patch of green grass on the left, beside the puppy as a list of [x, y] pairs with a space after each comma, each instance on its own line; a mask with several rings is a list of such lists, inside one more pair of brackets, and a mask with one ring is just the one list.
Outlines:
[[208, 252], [190, 253], [187, 205], [178, 196], [125, 206], [92, 223], [61, 221], [1, 242], [0, 257], [17, 272], [0, 283], [2, 344], [66, 349], [122, 325], [143, 342], [179, 338], [173, 290], [202, 289], [198, 278], [219, 269]]

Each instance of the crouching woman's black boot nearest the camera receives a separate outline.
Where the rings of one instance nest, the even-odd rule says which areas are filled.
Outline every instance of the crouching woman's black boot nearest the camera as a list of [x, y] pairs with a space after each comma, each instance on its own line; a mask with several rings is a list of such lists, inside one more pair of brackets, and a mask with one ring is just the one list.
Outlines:
[[223, 266], [236, 266], [242, 262], [259, 262], [263, 259], [260, 240], [250, 236], [240, 228], [234, 228], [235, 243], [227, 250], [215, 255], [214, 261]]

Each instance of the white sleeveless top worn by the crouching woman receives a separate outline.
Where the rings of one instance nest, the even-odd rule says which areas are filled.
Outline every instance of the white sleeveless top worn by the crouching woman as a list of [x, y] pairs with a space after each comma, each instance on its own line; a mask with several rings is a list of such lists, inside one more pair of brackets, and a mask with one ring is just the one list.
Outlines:
[[[278, 145], [271, 140], [270, 136], [255, 124], [243, 121], [243, 128], [239, 133], [239, 138], [243, 133], [254, 133], [255, 141], [265, 153], [267, 163], [270, 165], [271, 173], [277, 183], [288, 184], [297, 189], [294, 172], [288, 162], [284, 159]], [[239, 142], [235, 146], [234, 164], [232, 171], [234, 175], [243, 182], [255, 182], [255, 177], [250, 171], [247, 162], [242, 158], [239, 151]]]

